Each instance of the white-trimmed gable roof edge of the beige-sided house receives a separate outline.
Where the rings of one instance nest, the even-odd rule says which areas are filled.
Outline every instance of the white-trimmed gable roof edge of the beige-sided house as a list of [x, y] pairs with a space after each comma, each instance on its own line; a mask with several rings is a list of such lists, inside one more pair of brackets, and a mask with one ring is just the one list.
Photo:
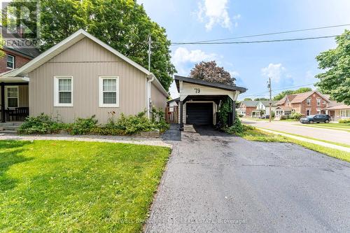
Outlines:
[[6, 73], [3, 75], [3, 77], [16, 77], [16, 76], [26, 76], [27, 73], [30, 73], [31, 71], [34, 71], [34, 69], [38, 68], [39, 66], [43, 65], [45, 62], [48, 62], [50, 59], [55, 57], [56, 55], [59, 55], [59, 53], [63, 52], [64, 50], [71, 47], [71, 45], [74, 45], [78, 41], [82, 40], [83, 38], [90, 38], [92, 41], [98, 43], [103, 48], [106, 48], [106, 50], [109, 50], [114, 55], [120, 57], [120, 59], [123, 59], [125, 62], [131, 64], [135, 68], [139, 69], [143, 73], [145, 73], [147, 76], [153, 76], [155, 78], [154, 84], [156, 87], [158, 87], [158, 90], [160, 90], [165, 96], [169, 96], [167, 91], [162, 87], [159, 80], [151, 73], [151, 71], [148, 71], [140, 64], [137, 64], [136, 62], [132, 61], [132, 59], [126, 57], [125, 55], [121, 54], [114, 48], [112, 48], [110, 45], [107, 45], [103, 41], [99, 40], [98, 38], [92, 36], [91, 34], [87, 33], [83, 29], [79, 29], [75, 33], [71, 34], [71, 36], [65, 38], [63, 41], [57, 43], [57, 45], [52, 46], [52, 48], [46, 50], [41, 55], [38, 55], [38, 57], [32, 59], [30, 62], [25, 64], [19, 69], [15, 69], [12, 72]]

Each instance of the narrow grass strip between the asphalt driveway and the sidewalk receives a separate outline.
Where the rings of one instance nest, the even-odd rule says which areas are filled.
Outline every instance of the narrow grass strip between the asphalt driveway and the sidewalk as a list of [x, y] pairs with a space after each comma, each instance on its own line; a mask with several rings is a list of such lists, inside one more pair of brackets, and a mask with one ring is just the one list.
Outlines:
[[308, 143], [305, 141], [300, 141], [296, 139], [290, 139], [286, 136], [281, 136], [278, 134], [269, 134], [267, 132], [262, 132], [259, 129], [248, 129], [243, 134], [239, 134], [239, 136], [243, 137], [246, 140], [249, 141], [266, 141], [266, 142], [285, 142], [285, 143], [294, 143], [300, 146], [303, 146], [304, 148], [308, 148], [310, 150], [315, 150], [319, 153], [323, 153], [325, 155], [328, 155], [330, 157], [336, 157], [339, 160], [344, 160], [347, 162], [350, 162], [350, 153], [327, 148], [325, 146], [319, 146], [314, 143]]

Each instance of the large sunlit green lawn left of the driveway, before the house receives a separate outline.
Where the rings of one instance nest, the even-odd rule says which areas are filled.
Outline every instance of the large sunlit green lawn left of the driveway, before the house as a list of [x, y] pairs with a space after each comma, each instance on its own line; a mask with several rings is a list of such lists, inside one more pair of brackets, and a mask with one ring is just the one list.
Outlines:
[[141, 232], [170, 149], [0, 141], [0, 232]]

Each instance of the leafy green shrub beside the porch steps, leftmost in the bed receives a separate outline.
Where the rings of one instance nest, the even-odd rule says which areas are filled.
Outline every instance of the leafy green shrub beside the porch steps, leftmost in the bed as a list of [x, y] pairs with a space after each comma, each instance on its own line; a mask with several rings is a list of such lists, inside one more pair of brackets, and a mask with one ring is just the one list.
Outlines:
[[50, 115], [41, 113], [36, 117], [29, 116], [18, 129], [19, 134], [55, 134], [68, 129], [69, 125], [57, 122]]

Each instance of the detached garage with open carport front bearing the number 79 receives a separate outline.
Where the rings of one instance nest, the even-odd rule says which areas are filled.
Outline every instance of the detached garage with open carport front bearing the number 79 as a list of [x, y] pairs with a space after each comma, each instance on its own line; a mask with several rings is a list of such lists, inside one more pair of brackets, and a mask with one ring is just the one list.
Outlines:
[[229, 117], [230, 122], [233, 122], [237, 97], [246, 92], [244, 87], [183, 76], [175, 76], [175, 82], [180, 93], [178, 101], [180, 130], [183, 130], [183, 124], [216, 125], [218, 109], [227, 97], [232, 100], [233, 108]]

